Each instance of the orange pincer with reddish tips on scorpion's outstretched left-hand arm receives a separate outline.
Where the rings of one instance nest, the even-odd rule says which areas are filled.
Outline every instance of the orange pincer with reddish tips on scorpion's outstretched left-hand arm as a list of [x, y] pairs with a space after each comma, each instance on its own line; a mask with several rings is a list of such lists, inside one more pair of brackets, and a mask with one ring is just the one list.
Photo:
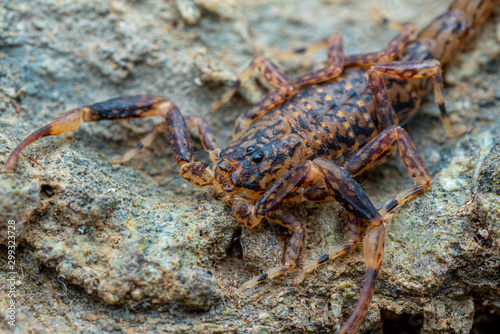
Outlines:
[[66, 132], [75, 131], [80, 127], [83, 120], [83, 112], [80, 108], [72, 109], [54, 120], [52, 123], [36, 130], [24, 139], [10, 154], [5, 164], [5, 170], [11, 169], [17, 161], [21, 151], [31, 143], [47, 136], [57, 136]]

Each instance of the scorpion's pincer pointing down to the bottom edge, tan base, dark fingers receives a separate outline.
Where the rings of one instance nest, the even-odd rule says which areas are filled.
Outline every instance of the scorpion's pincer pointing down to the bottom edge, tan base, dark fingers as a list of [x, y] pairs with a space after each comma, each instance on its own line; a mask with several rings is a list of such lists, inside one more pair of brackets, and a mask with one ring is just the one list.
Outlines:
[[384, 255], [385, 226], [374, 226], [363, 239], [363, 252], [366, 261], [366, 274], [363, 289], [351, 316], [340, 329], [339, 334], [355, 333], [368, 312], [378, 272]]

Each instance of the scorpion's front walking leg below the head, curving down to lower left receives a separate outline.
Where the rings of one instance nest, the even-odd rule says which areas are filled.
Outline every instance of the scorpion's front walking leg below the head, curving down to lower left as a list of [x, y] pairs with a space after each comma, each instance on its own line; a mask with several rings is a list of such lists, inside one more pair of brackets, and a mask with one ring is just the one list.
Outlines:
[[278, 266], [267, 270], [265, 273], [253, 277], [251, 280], [244, 283], [236, 293], [241, 293], [243, 290], [260, 283], [266, 279], [271, 279], [273, 277], [282, 275], [290, 271], [297, 264], [300, 253], [302, 252], [302, 247], [304, 246], [304, 239], [306, 236], [306, 231], [302, 222], [296, 217], [289, 213], [278, 210], [274, 215], [269, 217], [273, 222], [283, 225], [292, 229], [295, 233], [288, 242], [285, 255], [285, 264], [283, 266]]

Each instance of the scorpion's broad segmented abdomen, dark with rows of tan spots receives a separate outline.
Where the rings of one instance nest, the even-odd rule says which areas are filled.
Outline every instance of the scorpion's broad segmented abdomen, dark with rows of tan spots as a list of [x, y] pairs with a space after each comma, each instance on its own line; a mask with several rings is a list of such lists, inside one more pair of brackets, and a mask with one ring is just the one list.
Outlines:
[[[394, 92], [392, 108], [403, 122], [417, 110], [419, 94], [408, 80], [388, 78], [386, 84]], [[273, 119], [285, 120], [290, 132], [302, 138], [309, 151], [303, 161], [342, 158], [379, 133], [368, 76], [361, 68], [348, 68], [342, 77], [299, 90], [289, 101], [257, 120], [252, 128]]]

